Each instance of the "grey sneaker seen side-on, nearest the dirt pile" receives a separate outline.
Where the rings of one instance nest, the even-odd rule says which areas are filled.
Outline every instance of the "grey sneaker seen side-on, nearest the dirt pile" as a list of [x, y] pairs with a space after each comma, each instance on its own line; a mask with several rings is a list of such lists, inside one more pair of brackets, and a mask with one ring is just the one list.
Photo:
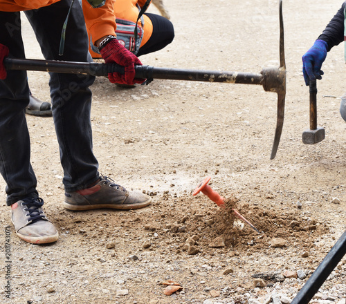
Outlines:
[[147, 207], [151, 202], [150, 196], [140, 191], [129, 192], [101, 175], [100, 181], [93, 187], [65, 192], [64, 207], [75, 211], [100, 208], [129, 210]]

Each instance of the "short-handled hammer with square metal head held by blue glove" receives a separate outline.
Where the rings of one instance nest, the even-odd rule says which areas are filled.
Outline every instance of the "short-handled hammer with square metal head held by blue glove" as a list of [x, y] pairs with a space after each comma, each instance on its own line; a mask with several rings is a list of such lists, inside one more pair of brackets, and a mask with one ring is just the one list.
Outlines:
[[310, 129], [302, 133], [302, 142], [304, 144], [317, 144], [325, 139], [325, 129], [317, 126], [317, 86], [316, 80], [309, 84], [310, 93]]

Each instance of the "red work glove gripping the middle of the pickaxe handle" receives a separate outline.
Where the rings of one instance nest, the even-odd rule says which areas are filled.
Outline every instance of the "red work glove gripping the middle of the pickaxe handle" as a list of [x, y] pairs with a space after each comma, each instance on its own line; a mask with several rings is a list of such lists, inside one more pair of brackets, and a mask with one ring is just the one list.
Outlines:
[[134, 66], [142, 66], [142, 63], [136, 55], [127, 50], [125, 46], [119, 44], [117, 39], [114, 38], [109, 40], [107, 44], [102, 46], [100, 53], [107, 64], [115, 62], [116, 64], [125, 67], [125, 74], [117, 72], [108, 74], [111, 83], [132, 85], [142, 84], [145, 82], [145, 79], [135, 78], [136, 71], [134, 70]]

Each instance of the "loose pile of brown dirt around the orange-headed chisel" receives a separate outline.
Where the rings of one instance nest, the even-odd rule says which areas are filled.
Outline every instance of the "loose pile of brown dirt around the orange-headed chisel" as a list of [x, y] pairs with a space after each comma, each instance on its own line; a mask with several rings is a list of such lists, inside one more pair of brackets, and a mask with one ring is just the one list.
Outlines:
[[[204, 200], [205, 198], [203, 198]], [[208, 199], [206, 199], [208, 203]], [[214, 203], [209, 200], [210, 208]], [[212, 211], [211, 211], [212, 210]], [[265, 249], [271, 245], [273, 238], [282, 238], [286, 243], [291, 240], [300, 240], [302, 247], [313, 247], [313, 241], [328, 231], [328, 227], [316, 222], [312, 218], [302, 217], [300, 213], [291, 210], [283, 213], [282, 210], [268, 211], [258, 205], [249, 205], [231, 195], [226, 200], [224, 208], [216, 207], [207, 211], [205, 215], [195, 213], [192, 217], [185, 217], [183, 221], [188, 225], [185, 239], [192, 236], [198, 240], [199, 247], [210, 251], [210, 248], [231, 248], [237, 251], [248, 249]], [[251, 225], [239, 219], [238, 211]], [[178, 230], [179, 231], [179, 228]], [[309, 241], [306, 241], [309, 240]]]

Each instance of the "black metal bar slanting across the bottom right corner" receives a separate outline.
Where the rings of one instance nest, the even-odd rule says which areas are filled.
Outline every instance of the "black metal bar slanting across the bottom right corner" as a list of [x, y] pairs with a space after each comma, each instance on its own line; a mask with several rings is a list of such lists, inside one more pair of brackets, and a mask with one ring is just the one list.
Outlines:
[[322, 260], [322, 263], [317, 267], [315, 272], [311, 274], [307, 283], [304, 284], [300, 292], [293, 298], [291, 304], [307, 304], [313, 298], [313, 295], [318, 292], [318, 289], [327, 280], [329, 274], [338, 265], [340, 260], [346, 254], [346, 231], [338, 239], [338, 242], [329, 251], [327, 256]]

